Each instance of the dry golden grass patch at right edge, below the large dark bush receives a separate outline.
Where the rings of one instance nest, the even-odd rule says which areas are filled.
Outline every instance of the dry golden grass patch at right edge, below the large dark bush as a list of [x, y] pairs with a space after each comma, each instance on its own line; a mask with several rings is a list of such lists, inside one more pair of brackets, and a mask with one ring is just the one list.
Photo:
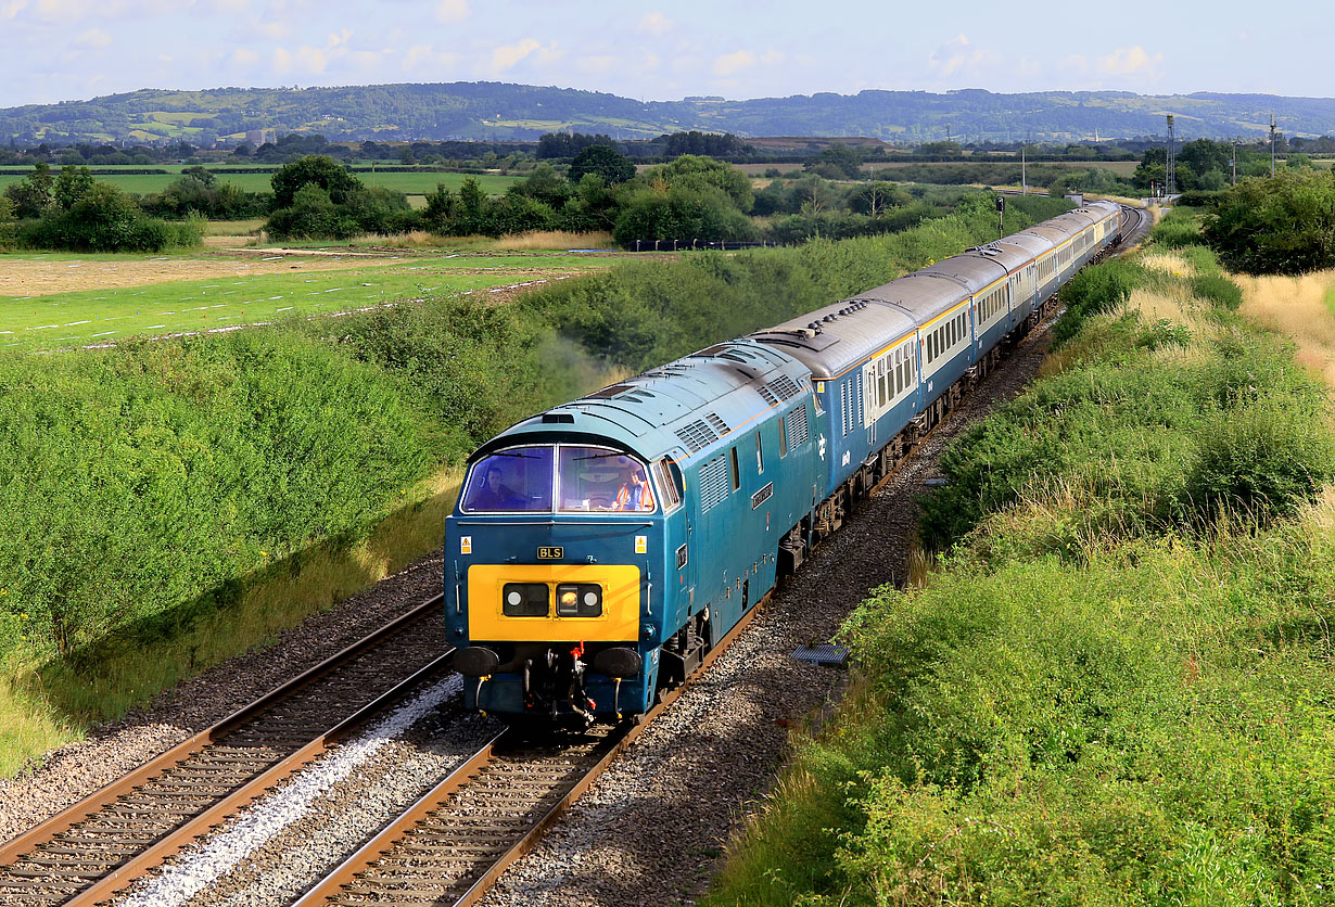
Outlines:
[[1291, 337], [1298, 361], [1335, 387], [1335, 271], [1298, 277], [1235, 277], [1243, 288], [1243, 316]]

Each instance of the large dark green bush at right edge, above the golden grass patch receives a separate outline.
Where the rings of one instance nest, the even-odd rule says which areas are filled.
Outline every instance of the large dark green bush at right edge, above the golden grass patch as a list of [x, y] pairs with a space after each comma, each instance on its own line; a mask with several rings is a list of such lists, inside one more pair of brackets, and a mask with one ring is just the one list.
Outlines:
[[1247, 273], [1335, 265], [1335, 173], [1280, 172], [1235, 185], [1206, 216], [1206, 241]]

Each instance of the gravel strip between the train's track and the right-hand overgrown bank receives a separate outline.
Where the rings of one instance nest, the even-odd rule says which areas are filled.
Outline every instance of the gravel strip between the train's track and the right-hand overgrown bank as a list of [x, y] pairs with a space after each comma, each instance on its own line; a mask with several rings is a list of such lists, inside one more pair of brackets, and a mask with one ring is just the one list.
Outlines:
[[718, 659], [479, 902], [483, 907], [676, 904], [718, 868], [742, 816], [766, 796], [788, 727], [838, 695], [845, 675], [789, 658], [825, 642], [866, 594], [906, 575], [913, 499], [947, 444], [1036, 375], [1043, 325], [846, 519]]

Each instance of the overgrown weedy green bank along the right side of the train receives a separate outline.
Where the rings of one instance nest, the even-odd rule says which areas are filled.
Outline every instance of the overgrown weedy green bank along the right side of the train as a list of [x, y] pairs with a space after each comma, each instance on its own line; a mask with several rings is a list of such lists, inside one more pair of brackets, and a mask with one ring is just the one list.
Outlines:
[[858, 679], [708, 903], [1328, 903], [1330, 397], [1167, 245], [1073, 281], [1048, 376], [949, 452], [939, 571], [850, 616]]

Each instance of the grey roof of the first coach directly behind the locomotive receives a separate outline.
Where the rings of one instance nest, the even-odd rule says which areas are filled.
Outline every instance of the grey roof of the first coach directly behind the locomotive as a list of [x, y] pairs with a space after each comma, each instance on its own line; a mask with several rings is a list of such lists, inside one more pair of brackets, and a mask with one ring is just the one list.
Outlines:
[[833, 377], [914, 328], [906, 311], [885, 304], [874, 293], [818, 308], [750, 336], [800, 360], [812, 377]]

